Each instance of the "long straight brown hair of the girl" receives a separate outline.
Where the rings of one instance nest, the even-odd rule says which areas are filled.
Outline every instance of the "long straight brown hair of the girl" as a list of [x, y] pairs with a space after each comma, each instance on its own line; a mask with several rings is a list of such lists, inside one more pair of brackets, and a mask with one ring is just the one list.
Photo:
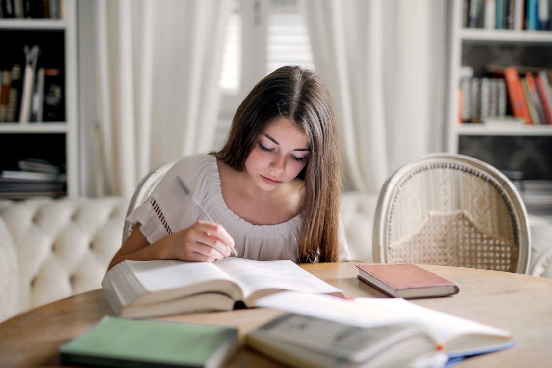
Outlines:
[[310, 142], [310, 158], [298, 175], [304, 179], [300, 208], [299, 262], [335, 262], [341, 150], [333, 103], [314, 71], [284, 66], [264, 77], [236, 110], [225, 145], [215, 156], [243, 171], [259, 134], [272, 119], [291, 119]]

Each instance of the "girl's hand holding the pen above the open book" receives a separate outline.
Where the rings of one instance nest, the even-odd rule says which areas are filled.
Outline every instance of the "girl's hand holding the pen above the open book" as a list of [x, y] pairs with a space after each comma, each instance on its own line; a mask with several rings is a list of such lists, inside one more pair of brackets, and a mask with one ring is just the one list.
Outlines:
[[234, 240], [225, 228], [208, 221], [197, 221], [170, 237], [166, 244], [168, 253], [163, 258], [213, 262], [229, 257], [230, 248], [234, 247]]

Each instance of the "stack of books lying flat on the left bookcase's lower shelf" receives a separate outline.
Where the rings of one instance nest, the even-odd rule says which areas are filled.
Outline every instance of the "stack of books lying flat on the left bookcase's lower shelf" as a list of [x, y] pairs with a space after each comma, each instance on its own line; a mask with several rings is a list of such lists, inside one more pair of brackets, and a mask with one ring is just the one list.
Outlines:
[[65, 195], [67, 179], [60, 166], [40, 159], [22, 159], [18, 167], [19, 170], [0, 173], [0, 198], [57, 198]]

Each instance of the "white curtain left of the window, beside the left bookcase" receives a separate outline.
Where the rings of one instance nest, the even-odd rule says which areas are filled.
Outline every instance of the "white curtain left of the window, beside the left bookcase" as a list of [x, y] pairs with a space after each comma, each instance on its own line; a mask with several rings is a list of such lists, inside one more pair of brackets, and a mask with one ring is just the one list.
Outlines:
[[[79, 31], [89, 32], [80, 40], [94, 50], [81, 63], [82, 85], [96, 92], [93, 102], [81, 103], [81, 138], [93, 152], [83, 154], [93, 162], [83, 163], [94, 167], [82, 174], [82, 191], [129, 198], [157, 164], [211, 150], [231, 0], [99, 0], [79, 7]], [[87, 185], [87, 177], [95, 183]]]

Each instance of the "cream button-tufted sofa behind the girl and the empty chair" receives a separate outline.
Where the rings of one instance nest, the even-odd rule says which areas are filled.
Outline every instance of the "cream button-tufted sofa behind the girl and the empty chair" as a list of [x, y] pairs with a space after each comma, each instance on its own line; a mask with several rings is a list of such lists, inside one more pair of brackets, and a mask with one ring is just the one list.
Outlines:
[[[370, 262], [377, 198], [344, 193], [341, 217], [353, 259]], [[128, 201], [119, 197], [0, 201], [0, 322], [100, 287], [119, 249]], [[552, 277], [552, 224], [530, 217], [529, 273]]]

